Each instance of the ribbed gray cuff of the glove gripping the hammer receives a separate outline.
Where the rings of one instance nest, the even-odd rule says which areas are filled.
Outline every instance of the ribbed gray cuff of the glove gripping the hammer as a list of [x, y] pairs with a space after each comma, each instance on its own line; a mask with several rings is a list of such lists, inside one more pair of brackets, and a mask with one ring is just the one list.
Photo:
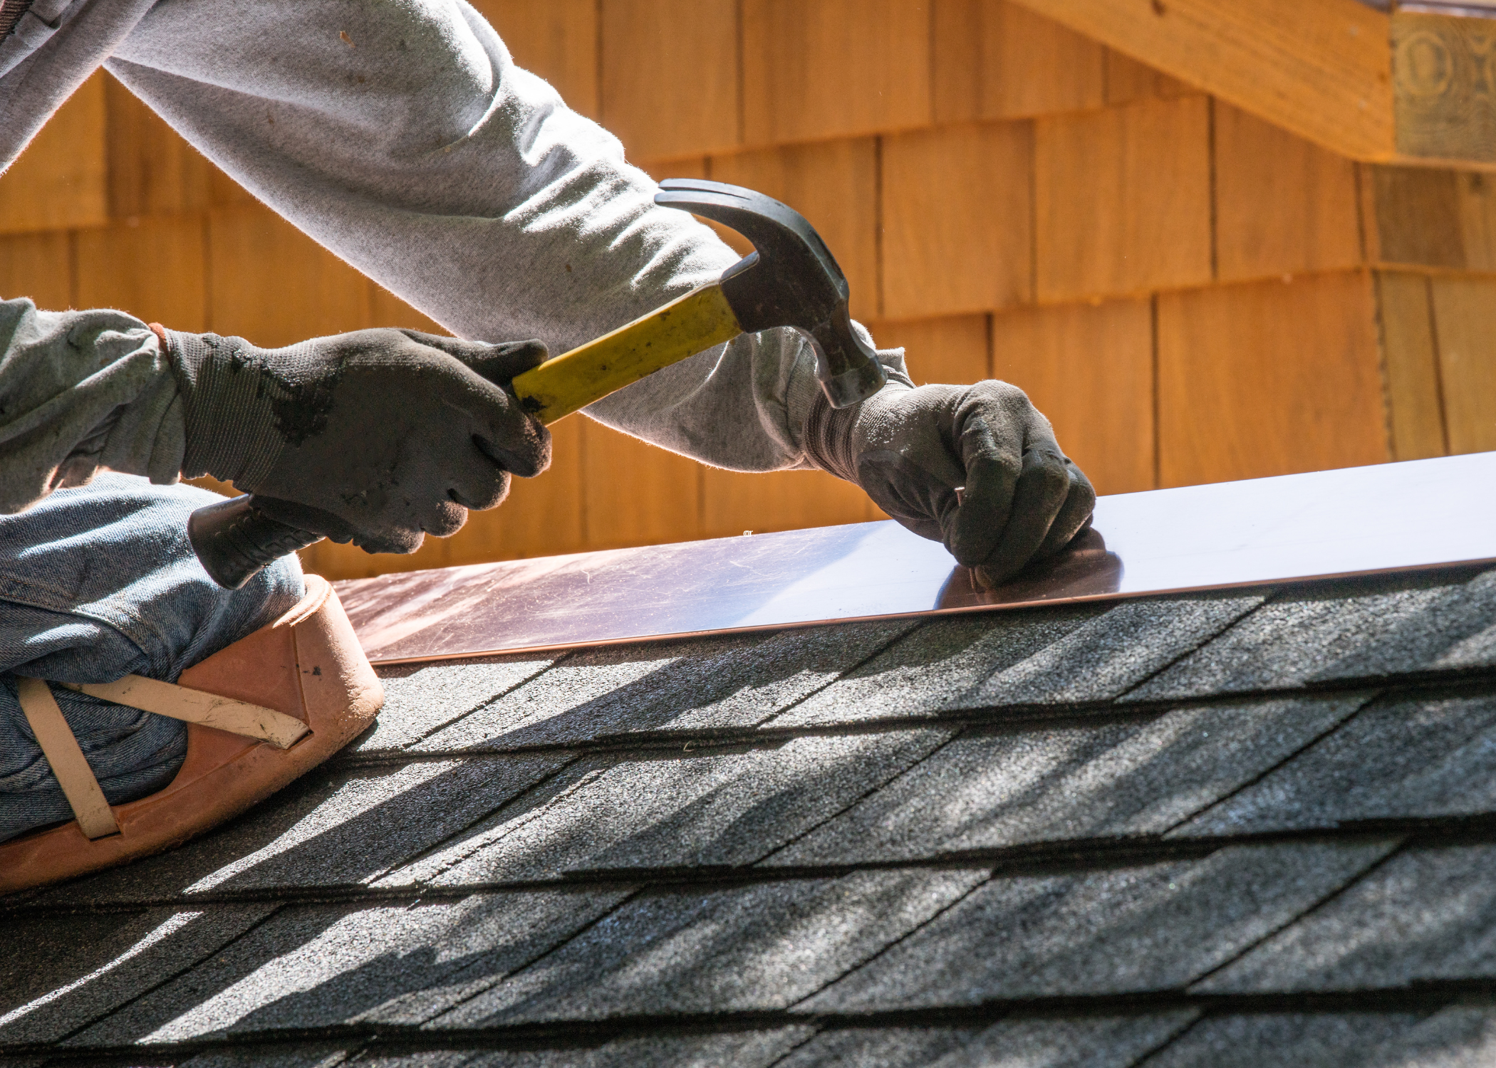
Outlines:
[[[181, 389], [187, 437], [183, 476], [211, 474], [253, 492], [286, 447], [275, 411], [284, 390], [268, 374], [266, 352], [244, 338], [183, 334], [159, 323], [151, 329], [163, 340]], [[281, 353], [292, 360], [298, 356]]]

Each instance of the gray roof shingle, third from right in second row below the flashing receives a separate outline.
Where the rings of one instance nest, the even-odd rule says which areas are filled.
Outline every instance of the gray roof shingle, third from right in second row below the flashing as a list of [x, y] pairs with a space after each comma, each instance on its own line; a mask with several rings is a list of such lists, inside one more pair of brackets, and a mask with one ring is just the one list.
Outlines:
[[907, 730], [799, 737], [696, 757], [580, 760], [380, 886], [749, 865], [948, 737], [942, 730]]

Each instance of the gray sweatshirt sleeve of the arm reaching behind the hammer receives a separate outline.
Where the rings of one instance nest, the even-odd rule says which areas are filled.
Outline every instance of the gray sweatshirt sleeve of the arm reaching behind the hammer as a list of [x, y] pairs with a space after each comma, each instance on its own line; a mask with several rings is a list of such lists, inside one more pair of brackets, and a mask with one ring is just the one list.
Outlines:
[[[518, 69], [462, 0], [162, 0], [108, 67], [260, 200], [459, 337], [565, 352], [738, 259], [655, 206], [618, 139]], [[884, 362], [902, 377], [901, 353]], [[588, 414], [769, 471], [805, 465], [817, 389], [809, 344], [779, 329]]]

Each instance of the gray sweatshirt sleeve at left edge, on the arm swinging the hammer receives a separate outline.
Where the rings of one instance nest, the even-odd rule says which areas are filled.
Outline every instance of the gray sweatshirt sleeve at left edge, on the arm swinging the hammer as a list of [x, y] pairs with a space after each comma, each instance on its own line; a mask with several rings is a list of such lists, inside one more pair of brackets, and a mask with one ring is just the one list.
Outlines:
[[100, 467], [177, 482], [183, 447], [177, 377], [145, 323], [0, 301], [0, 515]]

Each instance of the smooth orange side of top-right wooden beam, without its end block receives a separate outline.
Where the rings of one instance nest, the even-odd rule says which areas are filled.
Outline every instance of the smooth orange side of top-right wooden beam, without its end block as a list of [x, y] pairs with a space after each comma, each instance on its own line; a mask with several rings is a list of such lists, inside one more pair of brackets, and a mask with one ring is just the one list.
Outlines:
[[1014, 0], [1358, 160], [1396, 156], [1388, 16], [1357, 0]]

